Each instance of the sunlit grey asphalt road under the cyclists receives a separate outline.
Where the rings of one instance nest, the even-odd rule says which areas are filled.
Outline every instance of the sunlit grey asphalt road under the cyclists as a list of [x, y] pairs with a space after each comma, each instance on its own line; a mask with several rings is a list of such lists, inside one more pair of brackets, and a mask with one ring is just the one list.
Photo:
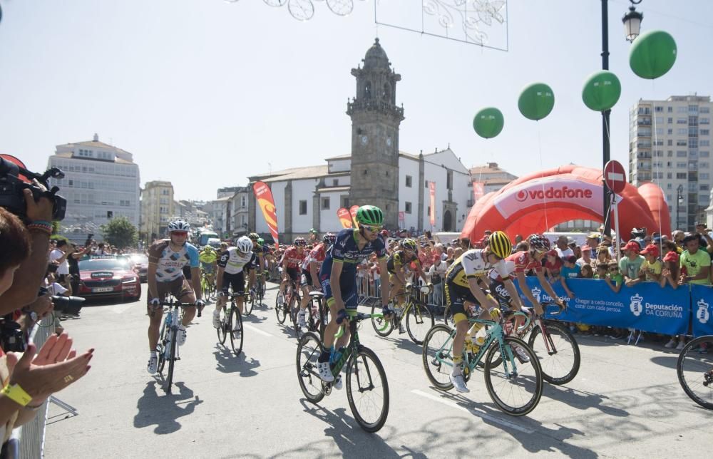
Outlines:
[[[78, 349], [95, 347], [85, 378], [56, 394], [77, 408], [49, 409], [48, 458], [453, 458], [465, 455], [576, 458], [705, 457], [712, 413], [679, 386], [677, 353], [578, 337], [582, 365], [566, 386], [545, 383], [528, 416], [499, 411], [481, 372], [471, 393], [442, 393], [421, 366], [421, 347], [406, 334], [388, 338], [364, 323], [360, 337], [376, 351], [389, 380], [386, 425], [365, 433], [345, 391], [315, 406], [297, 383], [292, 329], [275, 318], [275, 285], [245, 319], [239, 357], [217, 345], [212, 305], [188, 329], [173, 395], [146, 372], [148, 318], [140, 302], [85, 306], [64, 321]], [[144, 289], [145, 292], [145, 289]]]

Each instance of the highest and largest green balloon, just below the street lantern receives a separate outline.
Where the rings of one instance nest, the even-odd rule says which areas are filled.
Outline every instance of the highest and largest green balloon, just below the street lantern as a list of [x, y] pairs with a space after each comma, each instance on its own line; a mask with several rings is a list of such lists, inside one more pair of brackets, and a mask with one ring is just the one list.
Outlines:
[[655, 30], [642, 33], [629, 52], [629, 66], [641, 78], [659, 78], [676, 62], [676, 42], [669, 33]]

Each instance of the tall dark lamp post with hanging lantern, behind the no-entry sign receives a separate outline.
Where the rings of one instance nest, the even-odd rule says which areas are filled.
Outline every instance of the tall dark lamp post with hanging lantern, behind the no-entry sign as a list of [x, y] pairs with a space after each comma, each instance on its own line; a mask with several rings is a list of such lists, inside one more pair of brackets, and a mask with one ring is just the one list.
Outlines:
[[[624, 33], [627, 41], [634, 41], [639, 35], [641, 20], [644, 15], [636, 11], [634, 5], [638, 5], [642, 0], [629, 0], [631, 6], [629, 12], [624, 15]], [[602, 0], [602, 70], [609, 70], [609, 0]], [[609, 118], [612, 110], [602, 112], [602, 170], [610, 160], [610, 139], [609, 139]], [[612, 235], [612, 223], [610, 222], [609, 207], [611, 205], [610, 193], [612, 191], [604, 184], [604, 234]]]

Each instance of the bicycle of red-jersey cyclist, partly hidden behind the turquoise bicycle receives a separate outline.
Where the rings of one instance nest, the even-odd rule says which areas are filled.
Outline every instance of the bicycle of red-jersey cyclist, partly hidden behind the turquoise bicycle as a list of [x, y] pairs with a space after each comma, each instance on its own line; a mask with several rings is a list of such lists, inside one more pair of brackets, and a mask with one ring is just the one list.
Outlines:
[[[549, 308], [552, 316], [564, 310], [555, 303], [542, 303], [542, 306], [545, 311]], [[528, 346], [540, 361], [543, 379], [558, 386], [572, 381], [579, 372], [581, 359], [573, 334], [560, 322], [543, 319], [534, 309], [525, 308], [524, 312], [530, 321], [528, 326], [516, 328], [515, 335], [523, 341], [527, 337]], [[510, 334], [512, 329], [513, 323], [506, 322], [506, 332]]]

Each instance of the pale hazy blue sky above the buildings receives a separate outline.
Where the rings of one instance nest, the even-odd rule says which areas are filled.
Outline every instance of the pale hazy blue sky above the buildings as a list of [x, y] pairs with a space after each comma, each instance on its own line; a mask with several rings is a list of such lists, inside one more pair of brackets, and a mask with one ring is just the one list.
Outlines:
[[[515, 175], [601, 167], [601, 115], [581, 98], [601, 68], [599, 0], [509, 0], [506, 25], [485, 29], [508, 51], [377, 26], [374, 0], [355, 0], [349, 16], [313, 3], [314, 17], [297, 21], [261, 0], [0, 0], [0, 153], [40, 172], [56, 145], [98, 133], [133, 153], [142, 185], [170, 180], [176, 199], [215, 199], [251, 175], [350, 153], [350, 72], [378, 36], [402, 78], [402, 151], [450, 146], [466, 167], [496, 162]], [[380, 17], [419, 24], [420, 4], [379, 0]], [[674, 67], [656, 80], [629, 68], [629, 1], [608, 5], [610, 70], [622, 83], [611, 157], [627, 167], [637, 100], [713, 92], [713, 1], [637, 5], [642, 31], [677, 41]], [[537, 81], [553, 88], [555, 107], [535, 122], [517, 100]], [[486, 106], [505, 117], [489, 140], [472, 127]]]

